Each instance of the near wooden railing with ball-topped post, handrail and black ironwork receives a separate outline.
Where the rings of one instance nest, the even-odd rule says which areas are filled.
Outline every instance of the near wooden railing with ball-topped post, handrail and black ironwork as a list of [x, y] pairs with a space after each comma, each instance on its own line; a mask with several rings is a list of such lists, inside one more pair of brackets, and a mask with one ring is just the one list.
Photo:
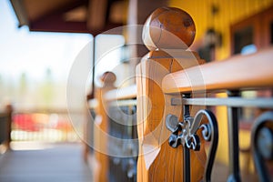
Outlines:
[[[165, 11], [169, 16], [163, 15]], [[179, 26], [179, 18], [187, 24]], [[176, 22], [176, 27], [168, 27], [166, 22]], [[223, 174], [217, 173], [214, 179], [241, 181], [240, 110], [247, 106], [262, 111], [273, 108], [272, 93], [267, 98], [240, 97], [243, 90], [272, 89], [273, 49], [204, 64], [197, 54], [183, 48], [194, 35], [192, 26], [183, 29], [184, 25], [192, 24], [183, 11], [159, 8], [148, 17], [143, 30], [150, 52], [136, 67], [137, 181], [211, 181], [212, 169], [218, 169], [218, 140], [223, 137], [228, 143], [224, 148], [220, 144], [219, 149], [228, 150], [229, 175], [223, 179]], [[228, 97], [218, 98], [215, 93]], [[216, 112], [215, 106], [227, 107], [227, 127], [225, 120], [217, 121], [225, 111]], [[272, 111], [268, 111], [258, 117], [251, 131], [251, 151], [260, 181], [269, 181], [273, 175], [272, 165], [268, 167], [273, 159], [272, 121]]]

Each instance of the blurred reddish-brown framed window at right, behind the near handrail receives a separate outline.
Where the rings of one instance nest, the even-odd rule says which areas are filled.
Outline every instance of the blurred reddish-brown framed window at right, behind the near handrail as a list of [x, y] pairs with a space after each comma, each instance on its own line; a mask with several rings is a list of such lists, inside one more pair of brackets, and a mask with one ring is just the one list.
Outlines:
[[[259, 49], [273, 45], [273, 6], [252, 15], [230, 27], [231, 55], [247, 55], [255, 53]], [[271, 96], [271, 90], [242, 91], [241, 95], [246, 98], [257, 96]], [[253, 107], [244, 107], [242, 110], [242, 123], [252, 123], [260, 110]], [[247, 126], [248, 125], [243, 125]]]

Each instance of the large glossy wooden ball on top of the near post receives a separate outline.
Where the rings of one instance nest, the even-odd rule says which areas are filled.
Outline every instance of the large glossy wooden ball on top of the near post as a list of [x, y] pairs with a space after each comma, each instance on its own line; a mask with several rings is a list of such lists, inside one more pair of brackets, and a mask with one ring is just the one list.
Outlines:
[[187, 49], [195, 35], [196, 26], [187, 12], [176, 7], [160, 7], [147, 18], [142, 39], [149, 50]]

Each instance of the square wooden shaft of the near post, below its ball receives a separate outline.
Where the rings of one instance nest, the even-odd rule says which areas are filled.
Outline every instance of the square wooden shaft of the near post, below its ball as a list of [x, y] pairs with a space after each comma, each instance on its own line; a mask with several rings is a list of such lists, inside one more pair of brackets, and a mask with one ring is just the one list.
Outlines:
[[[165, 126], [167, 114], [181, 119], [183, 110], [181, 106], [171, 106], [170, 96], [163, 93], [162, 79], [169, 73], [204, 62], [197, 59], [196, 54], [187, 51], [173, 51], [171, 54], [152, 51], [136, 66], [138, 182], [183, 179], [182, 147], [169, 147], [167, 140], [170, 132]], [[199, 152], [191, 152], [192, 181], [202, 179], [205, 161], [203, 147]]]

